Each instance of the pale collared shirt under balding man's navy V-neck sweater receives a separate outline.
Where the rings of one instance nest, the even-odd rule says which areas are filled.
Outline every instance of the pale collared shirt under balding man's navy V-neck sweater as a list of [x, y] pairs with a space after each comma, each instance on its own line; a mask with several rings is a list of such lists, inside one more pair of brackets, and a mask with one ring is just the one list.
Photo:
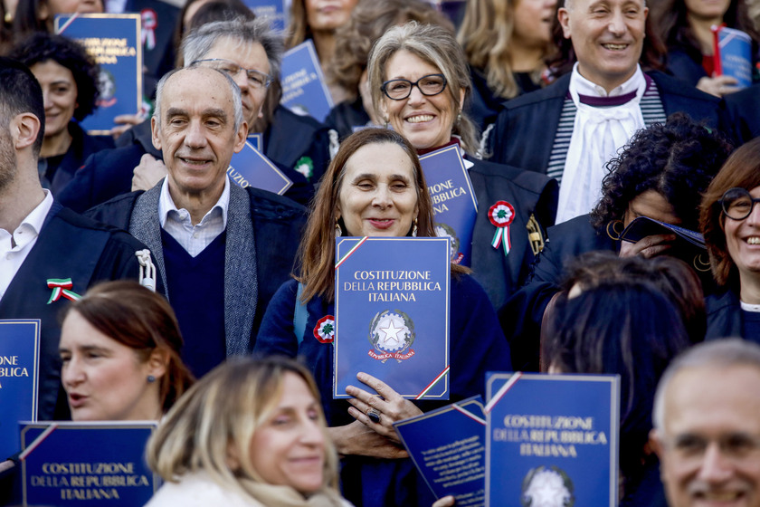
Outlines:
[[230, 178], [224, 177], [222, 196], [216, 201], [198, 225], [193, 225], [190, 212], [185, 208], [177, 209], [174, 199], [169, 194], [168, 178], [161, 186], [158, 198], [158, 219], [169, 235], [181, 244], [187, 253], [195, 257], [224, 232], [227, 226], [227, 208], [230, 206]]

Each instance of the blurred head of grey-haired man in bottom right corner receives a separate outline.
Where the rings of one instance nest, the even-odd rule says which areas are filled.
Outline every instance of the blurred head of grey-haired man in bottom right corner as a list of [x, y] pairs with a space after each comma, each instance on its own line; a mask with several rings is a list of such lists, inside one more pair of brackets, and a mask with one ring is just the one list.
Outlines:
[[665, 370], [650, 443], [670, 507], [760, 506], [760, 347], [687, 350]]

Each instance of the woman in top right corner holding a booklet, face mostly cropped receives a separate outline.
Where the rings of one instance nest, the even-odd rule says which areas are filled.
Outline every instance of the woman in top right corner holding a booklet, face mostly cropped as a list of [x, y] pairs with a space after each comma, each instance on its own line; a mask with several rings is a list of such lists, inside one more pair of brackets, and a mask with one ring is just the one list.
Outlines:
[[747, 33], [752, 38], [753, 63], [757, 62], [760, 32], [747, 14], [746, 0], [660, 0], [653, 3], [650, 15], [668, 48], [668, 72], [701, 91], [722, 97], [738, 90], [736, 79], [713, 76], [711, 26], [726, 24]]

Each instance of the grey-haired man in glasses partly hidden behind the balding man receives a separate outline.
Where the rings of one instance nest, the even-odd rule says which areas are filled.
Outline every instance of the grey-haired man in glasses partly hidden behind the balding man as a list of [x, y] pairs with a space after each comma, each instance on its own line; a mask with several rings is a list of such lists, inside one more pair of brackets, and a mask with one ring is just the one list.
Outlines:
[[[261, 151], [293, 181], [285, 195], [306, 204], [329, 163], [330, 131], [279, 105], [283, 51], [280, 35], [269, 24], [243, 18], [204, 24], [182, 45], [186, 66], [214, 67], [233, 78], [241, 89], [249, 134], [261, 133]], [[77, 171], [59, 196], [66, 206], [84, 212], [130, 190], [147, 190], [166, 176], [149, 122], [129, 129], [117, 145], [88, 158]]]

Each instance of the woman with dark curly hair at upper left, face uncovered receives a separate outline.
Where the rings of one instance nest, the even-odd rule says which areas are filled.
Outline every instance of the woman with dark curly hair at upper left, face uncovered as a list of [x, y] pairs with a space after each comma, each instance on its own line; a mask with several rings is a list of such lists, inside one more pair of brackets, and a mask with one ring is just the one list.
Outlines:
[[112, 148], [109, 138], [79, 126], [95, 110], [100, 68], [84, 48], [51, 33], [33, 33], [8, 55], [24, 63], [43, 88], [45, 133], [38, 161], [43, 187], [55, 196], [92, 153]]

